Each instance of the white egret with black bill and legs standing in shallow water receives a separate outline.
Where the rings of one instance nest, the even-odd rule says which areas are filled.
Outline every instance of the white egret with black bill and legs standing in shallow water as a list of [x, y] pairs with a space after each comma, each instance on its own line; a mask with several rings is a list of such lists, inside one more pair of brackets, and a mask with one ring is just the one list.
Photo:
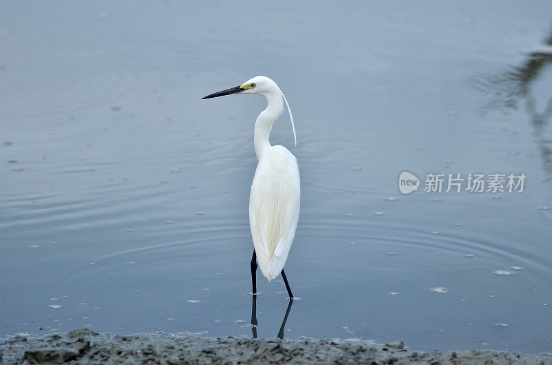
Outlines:
[[299, 220], [300, 179], [297, 159], [286, 147], [270, 145], [270, 129], [284, 110], [284, 101], [288, 106], [293, 140], [297, 146], [295, 124], [286, 96], [278, 85], [266, 76], [256, 76], [243, 83], [221, 92], [205, 96], [215, 98], [230, 94], [257, 94], [266, 97], [268, 105], [257, 116], [253, 143], [257, 154], [257, 169], [249, 196], [249, 227], [253, 238], [253, 258], [251, 258], [251, 282], [253, 295], [257, 294], [257, 261], [263, 275], [272, 281], [280, 273], [286, 284], [290, 300], [293, 294], [284, 273], [284, 264], [295, 238], [297, 220]]

